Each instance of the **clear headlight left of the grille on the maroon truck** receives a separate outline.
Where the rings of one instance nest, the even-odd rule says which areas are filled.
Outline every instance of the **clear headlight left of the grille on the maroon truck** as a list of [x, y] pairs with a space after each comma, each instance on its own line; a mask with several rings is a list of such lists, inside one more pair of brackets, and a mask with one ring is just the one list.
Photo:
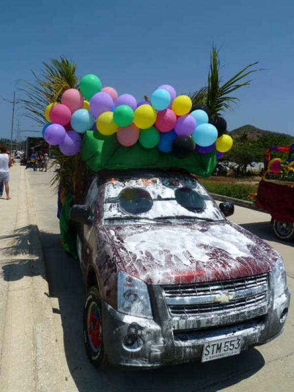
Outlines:
[[117, 310], [126, 315], [152, 319], [150, 297], [146, 283], [119, 271], [117, 278]]

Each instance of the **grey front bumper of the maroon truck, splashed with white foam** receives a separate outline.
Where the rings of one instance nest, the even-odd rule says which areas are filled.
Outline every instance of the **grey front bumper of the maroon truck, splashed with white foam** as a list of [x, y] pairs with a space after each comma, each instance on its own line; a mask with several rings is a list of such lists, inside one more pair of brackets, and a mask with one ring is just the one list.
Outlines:
[[242, 336], [242, 350], [261, 345], [282, 333], [290, 295], [287, 288], [265, 316], [200, 330], [174, 330], [169, 318], [156, 322], [128, 316], [102, 302], [105, 352], [116, 366], [155, 368], [200, 359], [204, 343], [218, 339]]

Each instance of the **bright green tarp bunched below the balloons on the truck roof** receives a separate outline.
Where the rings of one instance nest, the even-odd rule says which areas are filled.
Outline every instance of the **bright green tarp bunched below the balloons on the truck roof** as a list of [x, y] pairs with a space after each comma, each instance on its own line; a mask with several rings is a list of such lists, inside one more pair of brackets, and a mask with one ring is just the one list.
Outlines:
[[179, 168], [190, 173], [209, 177], [216, 166], [215, 149], [209, 154], [194, 151], [188, 158], [176, 158], [171, 152], [161, 152], [157, 147], [146, 149], [136, 143], [132, 147], [119, 145], [116, 134], [103, 136], [96, 131], [83, 135], [81, 159], [93, 171], [124, 169]]

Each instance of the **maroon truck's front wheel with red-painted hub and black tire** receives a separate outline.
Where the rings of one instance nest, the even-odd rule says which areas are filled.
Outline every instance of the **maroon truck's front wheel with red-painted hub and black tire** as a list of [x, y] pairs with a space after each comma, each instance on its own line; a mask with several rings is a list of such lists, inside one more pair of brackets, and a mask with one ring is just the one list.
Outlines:
[[103, 347], [101, 299], [98, 288], [92, 286], [87, 293], [83, 313], [83, 334], [87, 355], [92, 364], [102, 370], [107, 367]]

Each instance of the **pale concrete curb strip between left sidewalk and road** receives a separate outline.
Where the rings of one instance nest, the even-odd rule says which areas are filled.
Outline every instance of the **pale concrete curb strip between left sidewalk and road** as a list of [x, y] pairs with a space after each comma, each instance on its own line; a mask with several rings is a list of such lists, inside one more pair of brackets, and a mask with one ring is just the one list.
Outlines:
[[31, 264], [36, 391], [62, 392], [66, 391], [65, 379], [61, 373], [62, 365], [58, 358], [58, 343], [46, 276], [45, 258], [27, 172], [25, 172], [25, 182], [30, 224], [30, 247], [39, 261]]

